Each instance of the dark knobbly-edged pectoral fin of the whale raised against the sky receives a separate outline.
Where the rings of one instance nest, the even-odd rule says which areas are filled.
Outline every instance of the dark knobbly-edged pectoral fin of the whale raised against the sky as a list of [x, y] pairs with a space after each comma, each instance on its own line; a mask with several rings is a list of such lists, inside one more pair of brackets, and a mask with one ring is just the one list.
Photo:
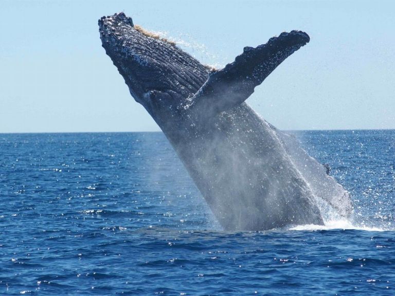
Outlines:
[[289, 55], [310, 41], [301, 31], [283, 32], [256, 48], [245, 47], [242, 54], [225, 68], [214, 71], [192, 98], [191, 108], [204, 108], [213, 116], [244, 102], [255, 86]]

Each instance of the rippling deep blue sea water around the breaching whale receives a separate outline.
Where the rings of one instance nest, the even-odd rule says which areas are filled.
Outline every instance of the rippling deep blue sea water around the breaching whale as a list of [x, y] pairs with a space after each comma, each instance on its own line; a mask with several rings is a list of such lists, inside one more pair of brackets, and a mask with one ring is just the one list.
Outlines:
[[0, 294], [394, 295], [395, 131], [298, 132], [351, 221], [222, 231], [161, 133], [0, 135]]

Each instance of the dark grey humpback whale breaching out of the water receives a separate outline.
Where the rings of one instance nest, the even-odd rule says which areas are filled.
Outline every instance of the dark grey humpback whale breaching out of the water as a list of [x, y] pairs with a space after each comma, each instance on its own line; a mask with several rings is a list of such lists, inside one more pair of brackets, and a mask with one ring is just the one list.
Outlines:
[[244, 102], [309, 42], [306, 33], [281, 33], [210, 70], [123, 13], [103, 16], [99, 27], [131, 95], [160, 126], [225, 230], [323, 224], [322, 207], [351, 213], [347, 192], [325, 167]]

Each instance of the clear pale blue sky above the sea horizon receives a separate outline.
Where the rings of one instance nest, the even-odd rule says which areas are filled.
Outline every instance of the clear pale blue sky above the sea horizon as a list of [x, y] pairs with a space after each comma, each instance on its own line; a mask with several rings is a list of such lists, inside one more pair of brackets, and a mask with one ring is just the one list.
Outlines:
[[218, 68], [306, 31], [246, 102], [281, 130], [395, 128], [395, 1], [0, 0], [0, 133], [160, 131], [101, 47], [120, 11]]

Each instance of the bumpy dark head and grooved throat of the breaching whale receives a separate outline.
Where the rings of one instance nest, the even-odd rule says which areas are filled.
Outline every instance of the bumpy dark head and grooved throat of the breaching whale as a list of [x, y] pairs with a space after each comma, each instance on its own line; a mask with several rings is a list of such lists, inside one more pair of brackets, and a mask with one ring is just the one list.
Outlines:
[[165, 106], [175, 109], [208, 77], [209, 69], [174, 43], [135, 26], [123, 12], [101, 17], [99, 27], [102, 46], [131, 95], [152, 116]]

